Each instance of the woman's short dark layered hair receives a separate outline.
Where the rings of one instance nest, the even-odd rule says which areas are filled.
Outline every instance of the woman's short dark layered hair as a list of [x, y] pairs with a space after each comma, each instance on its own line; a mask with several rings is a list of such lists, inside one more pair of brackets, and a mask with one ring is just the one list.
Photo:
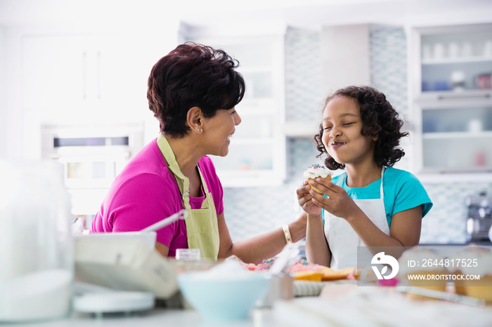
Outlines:
[[149, 109], [160, 131], [183, 137], [190, 128], [186, 115], [200, 107], [206, 118], [218, 109], [235, 107], [244, 96], [245, 81], [235, 71], [238, 60], [225, 51], [186, 42], [162, 57], [148, 78]]

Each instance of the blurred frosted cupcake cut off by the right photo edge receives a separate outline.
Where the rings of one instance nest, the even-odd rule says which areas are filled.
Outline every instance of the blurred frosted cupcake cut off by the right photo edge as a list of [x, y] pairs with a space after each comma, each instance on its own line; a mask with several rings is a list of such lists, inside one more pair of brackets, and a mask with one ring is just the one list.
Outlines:
[[455, 277], [479, 276], [479, 279], [455, 278], [456, 293], [492, 302], [492, 251], [480, 246], [467, 246], [453, 258]]

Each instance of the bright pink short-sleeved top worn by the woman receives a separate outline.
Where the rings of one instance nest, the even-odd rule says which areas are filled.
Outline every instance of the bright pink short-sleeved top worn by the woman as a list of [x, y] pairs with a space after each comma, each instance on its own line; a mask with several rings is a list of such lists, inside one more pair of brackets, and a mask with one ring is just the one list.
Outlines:
[[[220, 215], [224, 212], [224, 192], [214, 164], [208, 156], [203, 156], [198, 166]], [[200, 209], [204, 200], [202, 189], [202, 196], [190, 196], [190, 207]], [[145, 145], [112, 182], [90, 232], [138, 231], [183, 208], [178, 183], [167, 169], [155, 139]], [[157, 230], [157, 242], [169, 247], [169, 257], [176, 256], [176, 248], [188, 248], [184, 220]]]

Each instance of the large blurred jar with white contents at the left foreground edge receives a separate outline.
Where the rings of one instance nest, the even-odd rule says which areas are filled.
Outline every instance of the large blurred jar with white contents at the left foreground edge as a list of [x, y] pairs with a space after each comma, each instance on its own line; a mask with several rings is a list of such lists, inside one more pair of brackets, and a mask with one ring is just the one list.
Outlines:
[[70, 197], [56, 161], [0, 161], [0, 323], [67, 316]]

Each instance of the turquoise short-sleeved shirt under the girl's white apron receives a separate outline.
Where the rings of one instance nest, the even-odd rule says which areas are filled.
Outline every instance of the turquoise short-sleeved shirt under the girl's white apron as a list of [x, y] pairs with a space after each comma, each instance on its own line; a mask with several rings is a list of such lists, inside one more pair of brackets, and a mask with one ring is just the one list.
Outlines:
[[[342, 180], [342, 182], [340, 182]], [[383, 175], [384, 209], [388, 226], [391, 227], [391, 217], [395, 213], [422, 205], [422, 218], [432, 208], [432, 201], [425, 188], [415, 175], [393, 167], [387, 167]], [[348, 187], [347, 173], [332, 177], [333, 184], [343, 187], [349, 196], [356, 199], [380, 199], [381, 179], [366, 187]], [[324, 221], [323, 210], [323, 221]]]

